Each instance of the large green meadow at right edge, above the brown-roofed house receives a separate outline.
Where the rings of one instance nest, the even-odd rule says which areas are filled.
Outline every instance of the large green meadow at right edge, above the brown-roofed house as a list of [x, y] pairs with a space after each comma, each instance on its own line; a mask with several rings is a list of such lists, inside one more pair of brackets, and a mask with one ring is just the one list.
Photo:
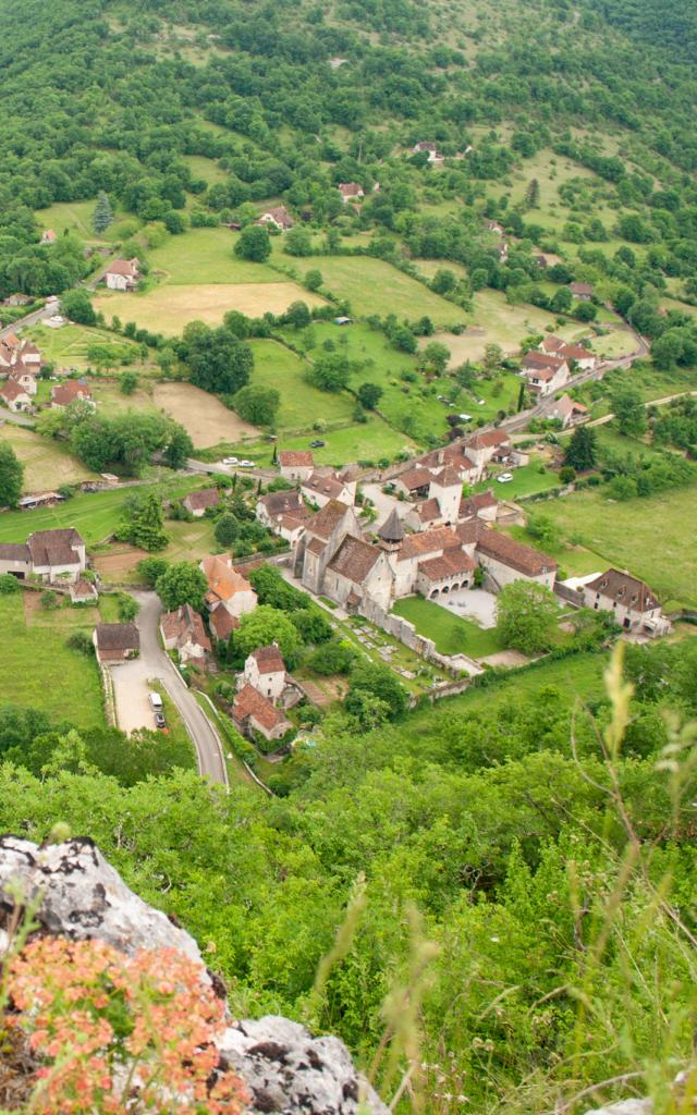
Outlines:
[[598, 491], [578, 492], [551, 500], [543, 510], [567, 537], [578, 539], [608, 565], [631, 570], [661, 600], [694, 608], [696, 505], [697, 487], [690, 485], [623, 503]]

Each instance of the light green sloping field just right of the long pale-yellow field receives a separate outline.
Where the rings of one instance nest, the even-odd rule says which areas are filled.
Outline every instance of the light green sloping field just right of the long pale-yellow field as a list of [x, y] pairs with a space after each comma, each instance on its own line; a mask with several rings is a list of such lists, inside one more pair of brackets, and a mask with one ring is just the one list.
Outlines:
[[313, 255], [304, 262], [308, 269], [321, 271], [323, 285], [338, 298], [348, 299], [351, 312], [359, 317], [396, 313], [399, 319], [414, 321], [426, 316], [439, 329], [467, 319], [459, 307], [384, 260], [368, 255]]

